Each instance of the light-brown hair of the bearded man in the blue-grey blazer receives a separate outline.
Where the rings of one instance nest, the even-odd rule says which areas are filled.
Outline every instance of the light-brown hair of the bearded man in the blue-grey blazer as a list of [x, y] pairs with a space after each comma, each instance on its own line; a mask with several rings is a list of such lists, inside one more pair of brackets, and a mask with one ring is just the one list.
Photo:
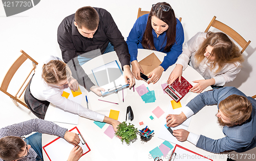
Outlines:
[[250, 118], [252, 105], [244, 96], [230, 95], [220, 102], [219, 109], [233, 124], [242, 124]]

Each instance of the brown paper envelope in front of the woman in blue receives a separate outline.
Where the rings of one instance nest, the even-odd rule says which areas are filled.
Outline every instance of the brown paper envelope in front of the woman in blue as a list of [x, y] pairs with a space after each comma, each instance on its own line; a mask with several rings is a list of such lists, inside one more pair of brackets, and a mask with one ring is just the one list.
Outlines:
[[140, 66], [142, 67], [144, 74], [148, 77], [151, 72], [155, 70], [162, 62], [158, 59], [155, 53], [148, 55], [141, 61], [139, 61]]

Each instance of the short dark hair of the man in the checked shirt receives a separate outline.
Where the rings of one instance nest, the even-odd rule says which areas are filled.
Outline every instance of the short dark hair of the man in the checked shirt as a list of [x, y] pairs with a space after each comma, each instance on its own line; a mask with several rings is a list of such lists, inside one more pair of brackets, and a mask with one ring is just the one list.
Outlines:
[[5, 136], [0, 139], [0, 157], [4, 160], [15, 160], [24, 151], [25, 142], [17, 136]]

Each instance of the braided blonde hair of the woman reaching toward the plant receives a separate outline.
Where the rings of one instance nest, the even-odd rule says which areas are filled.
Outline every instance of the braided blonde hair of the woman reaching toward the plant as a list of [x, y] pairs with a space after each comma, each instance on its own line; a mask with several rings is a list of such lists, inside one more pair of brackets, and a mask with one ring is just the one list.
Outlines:
[[51, 60], [42, 66], [42, 79], [46, 83], [57, 84], [71, 77], [69, 66], [60, 60]]

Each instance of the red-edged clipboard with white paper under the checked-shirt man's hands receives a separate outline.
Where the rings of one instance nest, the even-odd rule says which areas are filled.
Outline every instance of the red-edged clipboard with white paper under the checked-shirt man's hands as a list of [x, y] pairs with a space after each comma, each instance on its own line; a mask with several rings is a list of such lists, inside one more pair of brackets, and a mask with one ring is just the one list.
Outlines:
[[[69, 131], [79, 134], [80, 143], [78, 145], [83, 150], [82, 155], [91, 151], [91, 149], [89, 148], [88, 144], [82, 137], [82, 135], [77, 127], [74, 127]], [[57, 137], [57, 139], [53, 140], [52, 142], [48, 143], [47, 145], [43, 146], [42, 148], [44, 149], [48, 158], [51, 161], [59, 161], [59, 160], [67, 160], [68, 159], [71, 150], [74, 148], [74, 145], [68, 143], [65, 139], [63, 139], [61, 137]]]

